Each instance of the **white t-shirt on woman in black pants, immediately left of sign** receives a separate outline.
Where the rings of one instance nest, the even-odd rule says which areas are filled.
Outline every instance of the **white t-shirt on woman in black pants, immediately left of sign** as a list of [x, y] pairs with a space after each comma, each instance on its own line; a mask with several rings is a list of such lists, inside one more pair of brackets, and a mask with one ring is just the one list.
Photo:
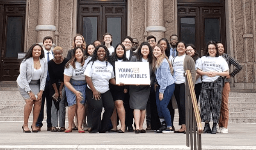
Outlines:
[[[91, 78], [94, 88], [99, 93], [105, 93], [109, 90], [109, 80], [114, 78], [113, 66], [109, 62], [106, 66], [106, 61], [99, 60], [94, 61], [94, 64], [91, 65], [92, 62], [88, 64], [84, 75]], [[89, 86], [88, 88], [91, 89]]]

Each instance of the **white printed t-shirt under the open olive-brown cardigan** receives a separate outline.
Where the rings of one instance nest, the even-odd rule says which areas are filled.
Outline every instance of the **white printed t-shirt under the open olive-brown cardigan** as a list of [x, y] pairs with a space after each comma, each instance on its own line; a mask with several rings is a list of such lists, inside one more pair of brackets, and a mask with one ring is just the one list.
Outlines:
[[174, 70], [174, 82], [176, 84], [185, 83], [184, 77], [184, 59], [185, 54], [182, 56], [176, 56], [173, 61], [173, 70]]

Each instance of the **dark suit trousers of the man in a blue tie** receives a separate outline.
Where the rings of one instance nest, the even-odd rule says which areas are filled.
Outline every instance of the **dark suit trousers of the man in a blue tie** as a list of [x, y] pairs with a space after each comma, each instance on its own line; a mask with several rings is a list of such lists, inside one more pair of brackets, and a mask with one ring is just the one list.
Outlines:
[[50, 96], [50, 81], [46, 80], [46, 86], [44, 88], [43, 91], [43, 95], [42, 95], [42, 103], [41, 103], [41, 110], [40, 110], [40, 114], [38, 116], [37, 119], [37, 126], [38, 127], [42, 127], [43, 126], [43, 109], [44, 109], [44, 103], [46, 101], [46, 114], [47, 114], [47, 119], [46, 119], [46, 123], [47, 123], [47, 127], [52, 127], [52, 121], [51, 121], [51, 110], [52, 110], [52, 97]]

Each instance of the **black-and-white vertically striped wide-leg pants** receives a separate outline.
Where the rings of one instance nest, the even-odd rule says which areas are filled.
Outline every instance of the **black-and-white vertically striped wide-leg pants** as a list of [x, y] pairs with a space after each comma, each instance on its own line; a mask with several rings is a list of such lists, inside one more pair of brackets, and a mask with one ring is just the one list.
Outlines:
[[219, 77], [213, 82], [203, 82], [200, 93], [202, 122], [209, 121], [213, 115], [213, 123], [219, 122], [219, 113], [222, 103], [223, 80]]

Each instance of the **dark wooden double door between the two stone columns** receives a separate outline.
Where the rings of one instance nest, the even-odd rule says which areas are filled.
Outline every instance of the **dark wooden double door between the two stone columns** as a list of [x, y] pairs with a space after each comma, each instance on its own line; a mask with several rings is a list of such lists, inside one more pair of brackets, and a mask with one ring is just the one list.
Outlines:
[[78, 33], [89, 44], [109, 32], [115, 47], [127, 34], [126, 10], [126, 0], [78, 0]]

